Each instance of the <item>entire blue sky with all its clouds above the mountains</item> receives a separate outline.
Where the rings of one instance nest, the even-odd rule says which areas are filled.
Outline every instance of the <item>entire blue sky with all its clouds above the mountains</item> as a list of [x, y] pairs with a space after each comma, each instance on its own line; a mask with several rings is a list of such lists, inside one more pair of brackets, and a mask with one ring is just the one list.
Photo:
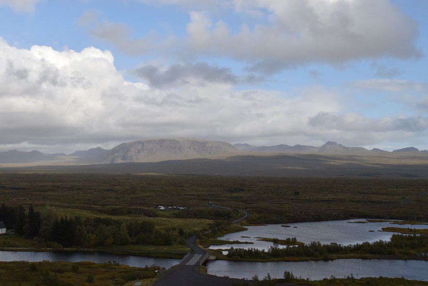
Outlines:
[[428, 150], [428, 0], [0, 0], [0, 151]]

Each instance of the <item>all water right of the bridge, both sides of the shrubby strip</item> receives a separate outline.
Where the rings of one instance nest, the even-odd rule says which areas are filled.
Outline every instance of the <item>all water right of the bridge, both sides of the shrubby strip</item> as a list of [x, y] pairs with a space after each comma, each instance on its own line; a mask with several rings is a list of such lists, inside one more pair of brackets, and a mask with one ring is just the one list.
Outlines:
[[[211, 246], [210, 248], [228, 249], [233, 246], [236, 248], [254, 247], [268, 250], [273, 245], [271, 242], [258, 241], [257, 237], [276, 237], [280, 239], [296, 237], [298, 241], [304, 243], [319, 241], [322, 244], [334, 242], [348, 245], [365, 241], [373, 242], [380, 239], [388, 241], [393, 233], [381, 232], [382, 227], [428, 228], [427, 225], [397, 225], [390, 222], [355, 223], [357, 221], [365, 221], [365, 219], [289, 223], [286, 224], [287, 227], [284, 227], [285, 224], [249, 226], [246, 231], [227, 234], [220, 237], [220, 239], [250, 241], [254, 242], [254, 244], [228, 244]], [[378, 259], [338, 259], [333, 261], [304, 262], [236, 262], [217, 260], [209, 262], [207, 265], [209, 274], [239, 279], [251, 279], [254, 274], [257, 274], [262, 279], [268, 272], [272, 278], [283, 278], [284, 271], [286, 270], [293, 272], [297, 277], [310, 278], [311, 280], [330, 278], [332, 275], [337, 278], [344, 278], [352, 274], [355, 278], [383, 276], [428, 281], [427, 269], [427, 261]]]

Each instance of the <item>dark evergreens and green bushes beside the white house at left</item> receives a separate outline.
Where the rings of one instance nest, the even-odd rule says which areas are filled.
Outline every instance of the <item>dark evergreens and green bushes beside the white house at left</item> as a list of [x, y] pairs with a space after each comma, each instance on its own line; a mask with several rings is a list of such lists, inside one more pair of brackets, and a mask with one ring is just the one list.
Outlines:
[[59, 215], [55, 207], [46, 206], [41, 212], [30, 205], [28, 211], [22, 205], [0, 208], [0, 220], [8, 229], [27, 238], [54, 241], [63, 247], [100, 245], [173, 245], [182, 243], [187, 234], [182, 229], [155, 229], [151, 221], [124, 222], [111, 218], [80, 218]]

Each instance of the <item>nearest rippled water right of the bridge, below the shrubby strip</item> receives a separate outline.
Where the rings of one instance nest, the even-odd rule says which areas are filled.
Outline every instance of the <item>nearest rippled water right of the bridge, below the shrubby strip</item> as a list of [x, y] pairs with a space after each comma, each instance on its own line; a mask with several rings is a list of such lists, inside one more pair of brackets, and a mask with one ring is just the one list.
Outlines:
[[259, 279], [268, 273], [272, 278], [283, 278], [284, 271], [311, 280], [321, 280], [351, 276], [362, 277], [404, 277], [409, 280], [428, 281], [428, 262], [421, 260], [379, 260], [379, 259], [337, 259], [332, 261], [303, 262], [238, 262], [216, 260], [209, 262], [207, 271], [216, 276], [251, 279], [257, 274]]

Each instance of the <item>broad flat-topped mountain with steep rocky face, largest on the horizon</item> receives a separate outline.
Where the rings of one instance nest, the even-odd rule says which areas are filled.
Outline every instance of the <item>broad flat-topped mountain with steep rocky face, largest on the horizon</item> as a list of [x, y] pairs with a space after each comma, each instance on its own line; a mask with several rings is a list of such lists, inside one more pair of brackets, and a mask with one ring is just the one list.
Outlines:
[[239, 151], [221, 141], [198, 139], [149, 139], [122, 143], [111, 149], [105, 163], [159, 162], [231, 156]]

